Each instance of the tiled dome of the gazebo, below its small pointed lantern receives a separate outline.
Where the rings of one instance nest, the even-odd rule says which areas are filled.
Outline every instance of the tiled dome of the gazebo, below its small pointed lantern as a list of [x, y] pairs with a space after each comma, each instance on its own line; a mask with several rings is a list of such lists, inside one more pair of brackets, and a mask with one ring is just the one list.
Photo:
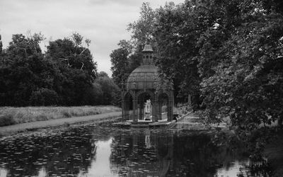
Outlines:
[[126, 89], [156, 89], [156, 86], [160, 81], [161, 79], [158, 76], [158, 67], [154, 65], [142, 65], [134, 69], [134, 71], [129, 74], [126, 82]]

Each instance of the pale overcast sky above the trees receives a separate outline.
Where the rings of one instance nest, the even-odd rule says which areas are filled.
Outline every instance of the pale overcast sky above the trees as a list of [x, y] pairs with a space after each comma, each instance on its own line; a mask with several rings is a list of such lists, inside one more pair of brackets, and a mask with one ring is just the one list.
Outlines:
[[30, 31], [45, 36], [43, 47], [50, 40], [76, 32], [91, 40], [89, 49], [98, 63], [98, 72], [111, 76], [109, 55], [120, 40], [130, 39], [127, 25], [138, 20], [145, 1], [152, 8], [166, 3], [166, 0], [0, 0], [2, 42], [6, 47], [12, 35], [27, 35]]

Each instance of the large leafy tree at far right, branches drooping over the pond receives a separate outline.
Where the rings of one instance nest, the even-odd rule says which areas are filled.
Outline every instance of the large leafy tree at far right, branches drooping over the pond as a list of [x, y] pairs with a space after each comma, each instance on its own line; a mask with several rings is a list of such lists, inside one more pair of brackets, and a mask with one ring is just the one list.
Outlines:
[[[218, 59], [213, 64], [201, 61], [199, 65], [204, 71], [202, 118], [207, 122], [231, 118], [232, 126], [248, 142], [256, 158], [275, 135], [270, 130], [277, 127], [266, 125], [278, 122], [282, 128], [283, 118], [283, 16], [275, 7], [266, 8], [264, 2], [238, 1], [236, 7], [241, 11], [234, 17], [238, 23], [233, 30], [224, 29], [228, 32], [226, 40], [213, 48], [204, 47], [212, 43], [211, 38], [202, 38], [201, 55], [213, 48], [219, 53]], [[207, 30], [205, 36], [214, 36], [217, 30], [222, 29]], [[212, 72], [205, 73], [205, 65], [212, 67]]]

